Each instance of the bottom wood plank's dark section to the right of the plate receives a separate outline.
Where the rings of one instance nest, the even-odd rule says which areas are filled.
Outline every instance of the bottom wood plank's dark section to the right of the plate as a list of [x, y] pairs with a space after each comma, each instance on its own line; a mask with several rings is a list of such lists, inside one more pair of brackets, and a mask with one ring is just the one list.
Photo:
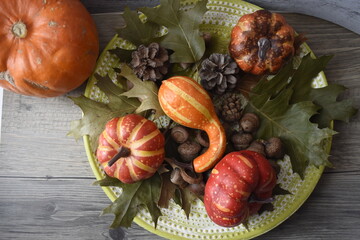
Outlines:
[[256, 239], [359, 239], [359, 173], [324, 174], [304, 205]]

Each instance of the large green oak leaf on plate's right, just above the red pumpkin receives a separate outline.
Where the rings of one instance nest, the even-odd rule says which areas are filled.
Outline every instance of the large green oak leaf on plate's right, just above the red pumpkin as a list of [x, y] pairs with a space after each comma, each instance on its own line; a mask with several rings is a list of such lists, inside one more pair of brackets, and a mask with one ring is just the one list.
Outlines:
[[[303, 58], [302, 61], [305, 61], [303, 65], [307, 65], [309, 58]], [[313, 62], [315, 65], [322, 63], [323, 59]], [[318, 66], [316, 71], [321, 71], [322, 67]], [[300, 71], [302, 68], [294, 70], [290, 63], [270, 81], [262, 79], [250, 94], [246, 111], [257, 113], [261, 119], [257, 137], [279, 137], [290, 156], [293, 171], [303, 177], [308, 164], [331, 165], [324, 142], [335, 132], [329, 128], [319, 129], [316, 123], [310, 122], [310, 118], [317, 114], [321, 107], [307, 99], [291, 104], [294, 93], [300, 91], [291, 77], [299, 75]], [[303, 79], [307, 79], [313, 72], [303, 74]], [[308, 81], [311, 80], [312, 77]]]

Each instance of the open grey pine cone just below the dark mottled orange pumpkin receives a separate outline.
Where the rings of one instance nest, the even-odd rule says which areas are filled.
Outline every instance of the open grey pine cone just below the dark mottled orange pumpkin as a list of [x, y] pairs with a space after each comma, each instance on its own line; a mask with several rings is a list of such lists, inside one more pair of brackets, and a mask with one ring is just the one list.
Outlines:
[[206, 90], [223, 94], [235, 88], [239, 71], [236, 62], [229, 55], [213, 53], [201, 64], [201, 85]]

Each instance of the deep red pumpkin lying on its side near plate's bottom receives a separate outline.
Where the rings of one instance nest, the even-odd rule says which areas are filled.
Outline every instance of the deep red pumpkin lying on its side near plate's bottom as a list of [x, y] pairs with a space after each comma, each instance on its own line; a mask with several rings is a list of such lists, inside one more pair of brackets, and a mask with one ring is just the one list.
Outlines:
[[223, 227], [243, 223], [272, 196], [276, 173], [269, 161], [253, 151], [227, 154], [213, 168], [205, 186], [204, 204], [210, 219]]

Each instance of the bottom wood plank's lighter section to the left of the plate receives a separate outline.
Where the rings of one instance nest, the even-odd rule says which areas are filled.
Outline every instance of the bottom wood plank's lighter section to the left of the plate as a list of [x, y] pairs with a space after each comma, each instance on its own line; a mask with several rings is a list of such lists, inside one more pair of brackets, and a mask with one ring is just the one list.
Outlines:
[[0, 178], [0, 239], [162, 239], [136, 224], [110, 230], [110, 204], [93, 179]]

